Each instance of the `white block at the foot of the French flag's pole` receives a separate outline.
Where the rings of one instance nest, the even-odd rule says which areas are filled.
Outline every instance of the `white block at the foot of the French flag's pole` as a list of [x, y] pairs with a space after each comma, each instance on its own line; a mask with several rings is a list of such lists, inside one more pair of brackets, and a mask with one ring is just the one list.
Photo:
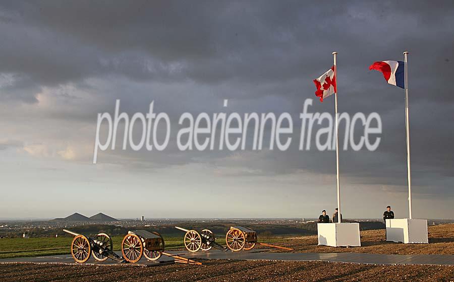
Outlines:
[[427, 220], [386, 220], [386, 241], [428, 244]]

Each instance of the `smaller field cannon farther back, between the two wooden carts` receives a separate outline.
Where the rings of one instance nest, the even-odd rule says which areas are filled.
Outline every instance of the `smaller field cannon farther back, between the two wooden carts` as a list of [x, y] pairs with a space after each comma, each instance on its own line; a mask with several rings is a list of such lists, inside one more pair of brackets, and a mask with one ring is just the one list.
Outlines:
[[214, 234], [209, 229], [204, 229], [199, 233], [195, 230], [188, 230], [178, 226], [175, 228], [186, 232], [184, 242], [186, 249], [190, 252], [197, 252], [198, 250], [208, 251], [212, 247], [221, 251], [227, 251], [227, 248], [215, 242]]

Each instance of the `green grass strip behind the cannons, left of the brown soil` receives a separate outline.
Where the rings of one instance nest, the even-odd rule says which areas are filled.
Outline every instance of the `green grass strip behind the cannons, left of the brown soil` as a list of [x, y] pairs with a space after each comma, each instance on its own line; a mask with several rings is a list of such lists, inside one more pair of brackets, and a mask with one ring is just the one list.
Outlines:
[[[3, 238], [0, 239], [0, 259], [15, 257], [33, 257], [69, 254], [71, 249], [71, 237], [58, 238]], [[123, 236], [113, 236], [113, 250], [119, 251]], [[166, 237], [165, 249], [184, 249], [183, 236]], [[271, 238], [259, 240], [260, 242], [272, 243], [282, 239]], [[225, 239], [216, 238], [216, 242], [225, 245]]]

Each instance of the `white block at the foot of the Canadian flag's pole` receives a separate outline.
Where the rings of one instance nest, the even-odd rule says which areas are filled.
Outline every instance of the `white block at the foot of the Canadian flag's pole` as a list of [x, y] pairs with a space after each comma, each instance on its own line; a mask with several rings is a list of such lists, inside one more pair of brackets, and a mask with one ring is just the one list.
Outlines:
[[359, 223], [318, 223], [317, 233], [319, 245], [361, 246]]

